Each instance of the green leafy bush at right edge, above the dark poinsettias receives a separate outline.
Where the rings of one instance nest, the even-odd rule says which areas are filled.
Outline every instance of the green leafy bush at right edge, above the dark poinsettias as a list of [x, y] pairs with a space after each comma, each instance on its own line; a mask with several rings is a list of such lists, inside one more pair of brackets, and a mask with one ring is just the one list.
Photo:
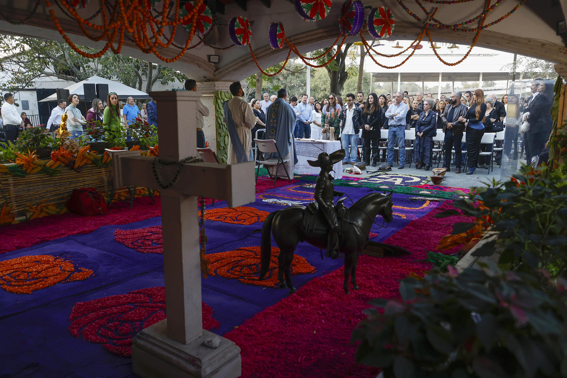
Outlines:
[[[483, 207], [478, 207], [480, 196]], [[526, 165], [510, 181], [486, 184], [455, 199], [464, 215], [492, 219], [498, 238], [473, 256], [500, 253], [505, 269], [526, 272], [544, 269], [552, 277], [567, 277], [567, 179], [545, 169], [534, 175]], [[446, 212], [439, 218], [451, 215]], [[458, 226], [456, 224], [455, 226]], [[454, 233], [459, 230], [455, 230]]]

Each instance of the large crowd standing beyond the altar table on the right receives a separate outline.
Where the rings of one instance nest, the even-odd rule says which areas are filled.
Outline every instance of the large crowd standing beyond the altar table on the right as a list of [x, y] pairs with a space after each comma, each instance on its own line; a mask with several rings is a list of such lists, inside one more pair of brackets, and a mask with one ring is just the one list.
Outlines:
[[[528, 164], [541, 154], [552, 129], [551, 107], [553, 103], [553, 83], [549, 80], [535, 79], [531, 83], [531, 96], [525, 99], [517, 94], [505, 94], [500, 99], [491, 93], [485, 96], [480, 88], [464, 93], [454, 91], [449, 97], [442, 95], [434, 99], [433, 94], [418, 92], [415, 97], [407, 91], [395, 95], [363, 92], [346, 94], [343, 101], [340, 95], [329, 94], [317, 101], [307, 94], [291, 95], [289, 105], [297, 121], [293, 130], [295, 138], [329, 139], [331, 133], [340, 140], [348, 153], [343, 164], [357, 162], [357, 149], [362, 139], [362, 161], [376, 167], [379, 160], [390, 167], [395, 158], [399, 159], [399, 169], [407, 162], [406, 148], [412, 141], [405, 140], [405, 131], [414, 130], [413, 158], [417, 169], [429, 170], [433, 164], [433, 137], [438, 130], [443, 131], [443, 167], [451, 169], [454, 155], [455, 173], [461, 173], [466, 151], [468, 175], [475, 173], [477, 165], [489, 164], [486, 154], [492, 145], [483, 144], [485, 133], [496, 133], [505, 128], [505, 141], [497, 141], [497, 147], [518, 158], [518, 135], [522, 132], [523, 147]], [[541, 95], [540, 95], [541, 94]], [[250, 105], [256, 117], [251, 126], [252, 138], [256, 131], [266, 127], [268, 108], [276, 95], [263, 94], [263, 100], [252, 99]], [[521, 130], [523, 129], [523, 130]], [[380, 130], [388, 130], [387, 138]], [[463, 140], [465, 136], [465, 140]], [[383, 153], [379, 156], [380, 147]], [[503, 146], [502, 146], [503, 145]], [[396, 148], [397, 147], [397, 148]], [[480, 156], [479, 155], [483, 155]], [[495, 160], [500, 164], [502, 152]]]

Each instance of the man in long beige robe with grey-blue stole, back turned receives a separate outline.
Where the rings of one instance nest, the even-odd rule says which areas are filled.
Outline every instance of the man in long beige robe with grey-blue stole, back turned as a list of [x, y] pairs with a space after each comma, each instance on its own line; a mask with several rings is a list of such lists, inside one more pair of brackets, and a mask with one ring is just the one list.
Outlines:
[[[242, 143], [244, 148], [245, 156], [250, 156], [250, 151], [252, 149], [252, 129], [256, 125], [256, 116], [252, 111], [250, 105], [242, 98], [244, 91], [239, 82], [234, 82], [230, 84], [230, 92], [232, 94], [232, 99], [227, 102], [230, 117], [234, 126], [236, 126], [236, 133]], [[225, 113], [226, 114], [226, 113]], [[223, 117], [223, 121], [228, 125], [226, 116]], [[229, 126], [230, 127], [230, 126]], [[246, 160], [245, 160], [246, 161]], [[227, 164], [236, 164], [238, 159], [236, 158], [235, 148], [232, 146], [231, 134], [229, 130], [229, 150], [227, 152]]]

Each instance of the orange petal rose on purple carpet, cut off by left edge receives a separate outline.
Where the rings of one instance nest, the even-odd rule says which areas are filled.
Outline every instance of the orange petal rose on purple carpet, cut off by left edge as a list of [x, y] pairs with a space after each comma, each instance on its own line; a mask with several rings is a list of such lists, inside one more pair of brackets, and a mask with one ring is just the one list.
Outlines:
[[81, 281], [93, 273], [82, 267], [78, 270], [73, 262], [49, 254], [16, 257], [0, 261], [0, 287], [16, 294], [32, 294], [60, 282]]

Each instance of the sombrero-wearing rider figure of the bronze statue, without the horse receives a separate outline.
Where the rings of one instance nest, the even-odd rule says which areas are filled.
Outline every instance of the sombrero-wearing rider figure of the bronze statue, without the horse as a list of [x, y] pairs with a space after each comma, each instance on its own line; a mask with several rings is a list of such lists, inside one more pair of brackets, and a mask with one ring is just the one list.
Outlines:
[[317, 160], [307, 160], [311, 167], [321, 168], [321, 172], [319, 172], [315, 182], [314, 197], [319, 205], [320, 213], [323, 214], [323, 217], [331, 226], [327, 239], [327, 256], [331, 258], [338, 257], [338, 220], [335, 210], [335, 197], [344, 194], [335, 190], [335, 185], [333, 185], [335, 177], [331, 175], [331, 171], [333, 171], [335, 163], [344, 159], [345, 153], [345, 150], [338, 150], [330, 155], [327, 152], [321, 152]]

